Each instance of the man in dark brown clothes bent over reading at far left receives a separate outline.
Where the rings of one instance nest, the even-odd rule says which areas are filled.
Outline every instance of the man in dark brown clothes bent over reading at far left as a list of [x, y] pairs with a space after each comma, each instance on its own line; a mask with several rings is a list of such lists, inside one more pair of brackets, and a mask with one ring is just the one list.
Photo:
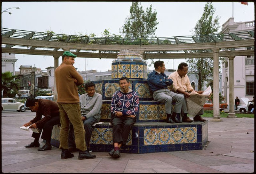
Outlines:
[[[33, 132], [32, 137], [35, 138], [34, 142], [31, 142], [25, 147], [39, 147], [39, 137], [42, 132], [41, 138], [46, 140], [46, 143], [44, 146], [39, 148], [38, 151], [51, 150], [53, 126], [60, 124], [60, 112], [57, 103], [47, 99], [35, 99], [30, 97], [26, 101], [26, 107], [29, 107], [31, 111], [36, 111], [36, 117], [28, 123], [25, 123], [23, 126], [38, 128], [40, 129], [40, 132]], [[44, 115], [44, 118], [42, 118], [42, 115]]]

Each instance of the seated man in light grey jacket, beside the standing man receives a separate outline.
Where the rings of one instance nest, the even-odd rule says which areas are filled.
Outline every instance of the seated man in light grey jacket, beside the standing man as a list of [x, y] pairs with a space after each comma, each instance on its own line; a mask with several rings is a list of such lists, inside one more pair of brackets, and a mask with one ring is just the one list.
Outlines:
[[[102, 95], [95, 93], [95, 84], [92, 82], [85, 83], [85, 91], [86, 93], [82, 94], [79, 100], [82, 121], [84, 122], [85, 142], [87, 149], [89, 149], [90, 139], [93, 131], [92, 125], [100, 121]], [[72, 142], [69, 142], [69, 144], [72, 144]]]

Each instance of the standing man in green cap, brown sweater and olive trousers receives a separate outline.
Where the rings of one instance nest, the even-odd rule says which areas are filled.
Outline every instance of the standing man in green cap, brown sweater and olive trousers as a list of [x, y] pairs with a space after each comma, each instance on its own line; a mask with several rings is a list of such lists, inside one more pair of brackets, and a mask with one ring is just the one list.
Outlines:
[[65, 51], [62, 63], [55, 70], [58, 107], [60, 110], [60, 147], [61, 159], [72, 158], [74, 154], [68, 150], [68, 129], [70, 122], [74, 127], [76, 148], [79, 149], [78, 159], [92, 159], [95, 155], [89, 153], [84, 139], [84, 124], [82, 121], [77, 86], [84, 83], [83, 77], [73, 67], [73, 53]]

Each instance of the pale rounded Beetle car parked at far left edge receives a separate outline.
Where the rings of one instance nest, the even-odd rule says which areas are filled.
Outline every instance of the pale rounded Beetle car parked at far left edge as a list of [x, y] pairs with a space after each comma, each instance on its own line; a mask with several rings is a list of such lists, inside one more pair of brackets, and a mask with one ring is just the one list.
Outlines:
[[24, 103], [16, 102], [12, 98], [2, 98], [2, 111], [6, 110], [26, 111]]

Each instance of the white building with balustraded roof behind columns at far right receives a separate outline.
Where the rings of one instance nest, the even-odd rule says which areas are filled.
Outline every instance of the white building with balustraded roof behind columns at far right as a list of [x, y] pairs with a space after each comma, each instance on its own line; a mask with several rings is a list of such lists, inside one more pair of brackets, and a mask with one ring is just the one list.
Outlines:
[[[234, 22], [234, 18], [229, 18], [222, 25], [221, 33], [248, 32], [252, 30], [254, 30], [254, 21]], [[254, 47], [241, 48], [240, 50], [244, 49], [254, 49]], [[228, 57], [225, 57], [225, 61], [222, 63], [221, 93], [225, 97], [226, 102], [229, 101], [228, 67]], [[247, 97], [250, 100], [254, 96], [254, 55], [234, 57], [234, 100], [236, 96], [238, 98]]]

